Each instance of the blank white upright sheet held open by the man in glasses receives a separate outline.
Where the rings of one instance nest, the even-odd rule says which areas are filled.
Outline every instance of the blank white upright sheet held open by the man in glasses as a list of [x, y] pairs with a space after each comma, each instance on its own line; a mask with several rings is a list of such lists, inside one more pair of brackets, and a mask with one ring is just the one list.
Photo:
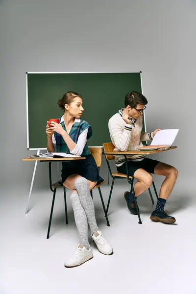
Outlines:
[[158, 131], [150, 145], [172, 145], [179, 129], [168, 129]]

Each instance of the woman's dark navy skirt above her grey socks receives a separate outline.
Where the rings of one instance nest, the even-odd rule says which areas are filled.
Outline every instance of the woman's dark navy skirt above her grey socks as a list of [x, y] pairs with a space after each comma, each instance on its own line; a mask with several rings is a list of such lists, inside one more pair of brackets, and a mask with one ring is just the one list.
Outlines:
[[102, 177], [98, 175], [98, 167], [92, 154], [86, 155], [86, 159], [71, 160], [62, 162], [62, 183], [72, 174], [79, 174], [85, 179], [100, 184], [103, 182]]

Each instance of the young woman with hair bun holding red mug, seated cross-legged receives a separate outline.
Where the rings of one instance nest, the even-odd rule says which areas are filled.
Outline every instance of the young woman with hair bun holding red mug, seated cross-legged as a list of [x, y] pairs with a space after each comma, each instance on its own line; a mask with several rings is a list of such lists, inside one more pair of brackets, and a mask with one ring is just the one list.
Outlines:
[[65, 267], [72, 268], [93, 258], [88, 241], [88, 224], [98, 250], [110, 255], [113, 249], [98, 229], [94, 203], [90, 195], [90, 191], [103, 179], [98, 175], [95, 159], [87, 147], [87, 139], [92, 137], [92, 128], [89, 123], [80, 119], [84, 111], [82, 98], [75, 92], [67, 92], [58, 101], [58, 105], [64, 111], [64, 115], [59, 119], [59, 123], [50, 122], [50, 127], [47, 123], [48, 151], [86, 157], [85, 160], [62, 163], [62, 182], [66, 188], [73, 190], [70, 199], [79, 233], [79, 245], [71, 258], [65, 262]]

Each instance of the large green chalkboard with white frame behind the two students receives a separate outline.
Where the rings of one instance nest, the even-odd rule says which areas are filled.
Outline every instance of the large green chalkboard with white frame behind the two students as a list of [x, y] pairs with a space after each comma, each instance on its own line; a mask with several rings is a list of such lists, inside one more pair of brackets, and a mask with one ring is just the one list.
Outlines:
[[26, 73], [27, 148], [47, 147], [46, 123], [60, 118], [57, 102], [67, 91], [81, 94], [82, 119], [92, 125], [88, 146], [110, 141], [108, 120], [124, 106], [130, 91], [142, 91], [141, 73]]

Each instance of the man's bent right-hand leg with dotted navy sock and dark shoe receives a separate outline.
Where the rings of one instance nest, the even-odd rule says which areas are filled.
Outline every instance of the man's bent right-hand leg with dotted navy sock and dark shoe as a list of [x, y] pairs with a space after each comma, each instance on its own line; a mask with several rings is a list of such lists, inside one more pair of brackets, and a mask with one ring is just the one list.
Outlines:
[[159, 162], [154, 169], [154, 173], [164, 175], [166, 178], [161, 185], [157, 205], [155, 207], [155, 210], [152, 212], [150, 219], [157, 222], [162, 221], [164, 223], [174, 223], [175, 219], [168, 216], [164, 212], [164, 207], [168, 197], [172, 193], [172, 189], [175, 185], [178, 172], [174, 167], [166, 163]]

